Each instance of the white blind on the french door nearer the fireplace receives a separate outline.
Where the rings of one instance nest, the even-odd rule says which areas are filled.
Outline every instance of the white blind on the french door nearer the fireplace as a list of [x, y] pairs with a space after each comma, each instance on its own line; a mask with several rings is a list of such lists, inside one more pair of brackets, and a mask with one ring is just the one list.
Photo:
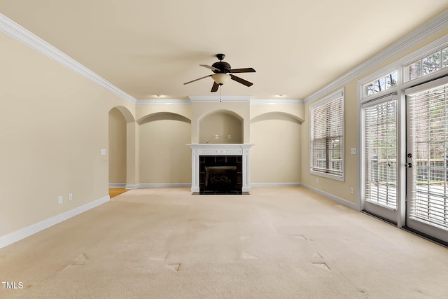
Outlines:
[[365, 200], [397, 208], [397, 101], [365, 108]]

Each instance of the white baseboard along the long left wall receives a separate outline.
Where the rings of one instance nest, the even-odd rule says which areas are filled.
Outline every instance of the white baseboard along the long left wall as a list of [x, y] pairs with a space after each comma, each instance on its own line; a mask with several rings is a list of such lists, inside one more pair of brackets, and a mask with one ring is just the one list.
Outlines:
[[15, 232], [11, 232], [8, 235], [0, 236], [0, 249], [15, 242], [18, 242], [21, 239], [25, 239], [26, 237], [34, 235], [37, 232], [45, 230], [46, 228], [50, 228], [52, 225], [56, 225], [57, 223], [66, 221], [67, 219], [79, 215], [90, 209], [93, 209], [94, 207], [98, 207], [100, 204], [109, 202], [109, 200], [111, 200], [111, 197], [107, 195], [100, 198], [99, 200], [94, 200], [93, 202], [89, 202], [88, 204], [84, 204], [83, 206], [77, 207], [76, 209], [72, 209], [70, 211], [66, 211], [52, 218], [39, 221], [38, 223], [29, 225], [26, 228], [22, 228], [20, 230], [16, 230]]

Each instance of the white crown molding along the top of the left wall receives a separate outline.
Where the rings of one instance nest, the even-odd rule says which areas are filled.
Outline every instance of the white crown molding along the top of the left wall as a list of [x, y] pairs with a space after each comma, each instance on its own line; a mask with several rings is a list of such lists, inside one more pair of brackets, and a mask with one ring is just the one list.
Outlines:
[[80, 64], [76, 60], [73, 60], [73, 58], [62, 53], [62, 51], [51, 46], [49, 43], [47, 43], [40, 37], [29, 32], [27, 29], [18, 25], [16, 22], [10, 20], [8, 17], [6, 17], [1, 13], [0, 13], [0, 31], [8, 34], [9, 36], [13, 37], [14, 39], [17, 39], [18, 41], [21, 41], [22, 43], [25, 43], [27, 46], [33, 48], [34, 50], [37, 50], [43, 55], [50, 57], [52, 60], [59, 62], [60, 64], [64, 65], [64, 67], [68, 67], [72, 71], [76, 71], [76, 73], [84, 76], [87, 79], [90, 79], [91, 81], [97, 83], [98, 85], [101, 85], [107, 90], [110, 90], [111, 92], [118, 95], [118, 97], [121, 97], [127, 100], [128, 102], [131, 102], [132, 104], [135, 104], [137, 102], [137, 100], [134, 97], [127, 94], [123, 90], [120, 90], [120, 88], [116, 87], [116, 85], [113, 85], [109, 81], [106, 81], [106, 79], [102, 78], [101, 76], [98, 76], [90, 69], [87, 69], [87, 67], [84, 67], [83, 64]]

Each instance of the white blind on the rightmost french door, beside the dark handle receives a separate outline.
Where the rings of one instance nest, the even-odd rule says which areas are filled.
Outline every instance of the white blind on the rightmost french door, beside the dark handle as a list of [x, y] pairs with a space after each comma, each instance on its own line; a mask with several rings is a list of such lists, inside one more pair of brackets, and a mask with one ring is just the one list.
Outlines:
[[448, 84], [407, 95], [412, 140], [409, 218], [448, 230]]

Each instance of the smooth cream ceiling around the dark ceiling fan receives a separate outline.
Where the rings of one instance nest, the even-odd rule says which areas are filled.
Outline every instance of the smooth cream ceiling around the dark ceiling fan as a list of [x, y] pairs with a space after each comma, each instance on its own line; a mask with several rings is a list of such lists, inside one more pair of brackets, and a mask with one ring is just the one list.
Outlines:
[[0, 0], [0, 13], [136, 99], [304, 99], [448, 9], [446, 0]]

